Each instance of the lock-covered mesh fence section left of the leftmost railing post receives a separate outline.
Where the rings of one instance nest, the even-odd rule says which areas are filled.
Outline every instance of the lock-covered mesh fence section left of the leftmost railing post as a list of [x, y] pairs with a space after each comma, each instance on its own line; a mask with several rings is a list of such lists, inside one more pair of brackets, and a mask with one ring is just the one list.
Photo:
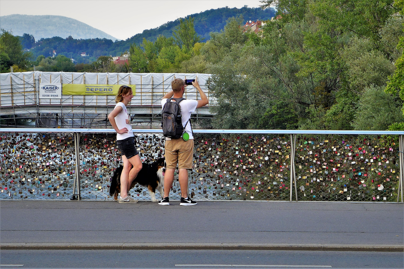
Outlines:
[[74, 178], [73, 133], [1, 133], [1, 199], [66, 199]]

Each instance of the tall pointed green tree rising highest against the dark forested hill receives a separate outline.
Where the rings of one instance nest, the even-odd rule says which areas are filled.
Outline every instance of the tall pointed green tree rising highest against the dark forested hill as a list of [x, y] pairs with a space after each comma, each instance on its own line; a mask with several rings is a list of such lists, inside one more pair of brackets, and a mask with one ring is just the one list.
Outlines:
[[199, 35], [195, 31], [194, 18], [180, 19], [179, 26], [175, 27], [173, 36], [176, 44], [183, 48], [191, 49], [195, 43], [200, 41]]

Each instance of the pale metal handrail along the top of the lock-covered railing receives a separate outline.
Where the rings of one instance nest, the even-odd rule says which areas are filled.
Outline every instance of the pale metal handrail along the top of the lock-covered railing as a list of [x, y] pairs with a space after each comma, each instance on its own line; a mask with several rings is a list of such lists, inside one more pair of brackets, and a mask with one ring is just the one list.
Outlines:
[[[162, 129], [132, 129], [134, 133], [162, 133]], [[274, 133], [274, 134], [352, 134], [352, 135], [404, 135], [404, 131], [355, 130], [257, 130], [257, 129], [194, 129], [194, 133]], [[0, 128], [0, 133], [116, 133], [114, 129], [91, 128]]]

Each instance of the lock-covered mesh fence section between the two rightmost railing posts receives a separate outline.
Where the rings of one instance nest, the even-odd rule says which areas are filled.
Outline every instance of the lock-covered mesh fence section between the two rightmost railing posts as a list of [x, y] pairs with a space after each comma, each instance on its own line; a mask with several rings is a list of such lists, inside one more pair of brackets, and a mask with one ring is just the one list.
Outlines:
[[398, 138], [299, 136], [298, 200], [397, 201]]

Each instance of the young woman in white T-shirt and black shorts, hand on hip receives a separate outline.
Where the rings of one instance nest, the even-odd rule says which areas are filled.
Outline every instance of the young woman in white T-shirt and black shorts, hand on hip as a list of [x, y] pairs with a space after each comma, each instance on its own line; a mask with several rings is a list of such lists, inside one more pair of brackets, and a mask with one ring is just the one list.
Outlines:
[[126, 106], [132, 100], [132, 88], [126, 85], [119, 87], [116, 95], [116, 106], [109, 113], [108, 119], [116, 131], [116, 144], [122, 154], [123, 170], [121, 173], [121, 194], [118, 199], [120, 203], [137, 203], [138, 201], [128, 196], [130, 184], [137, 177], [142, 169], [142, 162], [135, 147], [132, 125]]

